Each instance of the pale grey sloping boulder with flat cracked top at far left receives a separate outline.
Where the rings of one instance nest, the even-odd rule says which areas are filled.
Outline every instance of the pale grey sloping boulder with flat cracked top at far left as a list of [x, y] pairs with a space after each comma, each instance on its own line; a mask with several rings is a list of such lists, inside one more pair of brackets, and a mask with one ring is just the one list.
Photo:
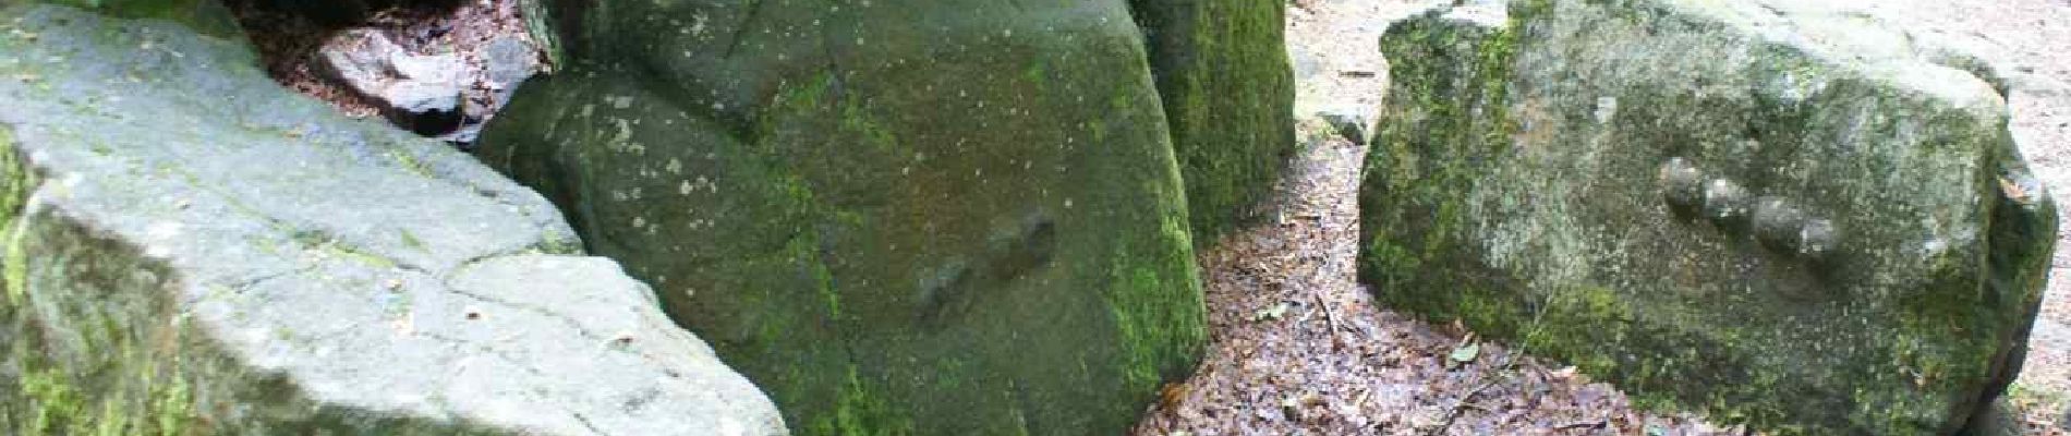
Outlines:
[[4, 6], [0, 101], [4, 434], [783, 434], [545, 198], [240, 41]]

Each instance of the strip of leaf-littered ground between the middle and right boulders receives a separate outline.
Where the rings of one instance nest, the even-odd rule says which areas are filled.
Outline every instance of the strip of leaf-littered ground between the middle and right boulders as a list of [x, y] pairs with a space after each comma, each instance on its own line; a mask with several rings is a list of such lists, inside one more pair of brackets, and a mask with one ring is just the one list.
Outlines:
[[[1377, 110], [1379, 35], [1423, 0], [1296, 0], [1296, 107]], [[1265, 223], [1199, 252], [1209, 353], [1137, 436], [1220, 434], [1746, 434], [1638, 411], [1570, 366], [1481, 343], [1458, 324], [1379, 308], [1357, 283], [1367, 149], [1305, 122]]]

